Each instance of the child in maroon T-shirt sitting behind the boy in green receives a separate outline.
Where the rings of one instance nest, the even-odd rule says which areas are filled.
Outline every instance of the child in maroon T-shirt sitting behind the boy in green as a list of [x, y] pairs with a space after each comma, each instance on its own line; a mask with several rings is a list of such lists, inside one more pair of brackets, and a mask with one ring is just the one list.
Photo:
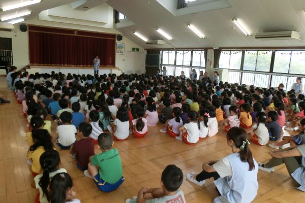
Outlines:
[[91, 132], [90, 123], [80, 123], [77, 129], [77, 136], [80, 140], [70, 148], [71, 156], [76, 159], [76, 166], [82, 171], [87, 170], [89, 157], [94, 155], [94, 141], [89, 138]]

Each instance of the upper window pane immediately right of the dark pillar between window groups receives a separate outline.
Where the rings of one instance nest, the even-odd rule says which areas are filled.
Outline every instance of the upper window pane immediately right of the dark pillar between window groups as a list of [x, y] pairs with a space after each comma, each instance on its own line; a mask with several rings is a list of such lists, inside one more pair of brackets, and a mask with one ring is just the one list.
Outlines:
[[219, 59], [220, 69], [240, 70], [242, 51], [222, 51]]

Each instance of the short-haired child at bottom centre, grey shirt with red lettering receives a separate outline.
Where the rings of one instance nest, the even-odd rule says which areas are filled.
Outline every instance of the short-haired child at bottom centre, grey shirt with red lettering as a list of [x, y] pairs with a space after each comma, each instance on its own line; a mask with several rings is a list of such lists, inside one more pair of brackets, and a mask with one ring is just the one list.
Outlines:
[[186, 203], [184, 193], [179, 190], [182, 181], [183, 173], [181, 169], [175, 165], [168, 165], [161, 175], [162, 188], [143, 187], [139, 190], [137, 197], [133, 197], [133, 199], [127, 199], [126, 203]]

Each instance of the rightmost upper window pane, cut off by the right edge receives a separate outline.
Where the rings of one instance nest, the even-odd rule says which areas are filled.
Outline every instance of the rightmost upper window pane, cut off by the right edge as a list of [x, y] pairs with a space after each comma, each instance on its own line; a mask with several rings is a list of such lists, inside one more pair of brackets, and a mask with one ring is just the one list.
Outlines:
[[[305, 69], [305, 53], [303, 51], [292, 51], [289, 73], [304, 74], [305, 73], [304, 69]], [[302, 83], [304, 82], [302, 81]]]

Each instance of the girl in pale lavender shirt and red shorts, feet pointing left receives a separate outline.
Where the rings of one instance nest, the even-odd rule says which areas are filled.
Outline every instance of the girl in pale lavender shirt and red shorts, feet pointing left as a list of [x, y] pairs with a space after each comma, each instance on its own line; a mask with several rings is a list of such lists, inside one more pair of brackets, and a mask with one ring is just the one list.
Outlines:
[[164, 124], [164, 128], [159, 131], [162, 133], [168, 133], [170, 137], [175, 138], [179, 136], [179, 128], [183, 125], [181, 119], [182, 111], [179, 107], [174, 107], [172, 111], [172, 119], [167, 120]]

